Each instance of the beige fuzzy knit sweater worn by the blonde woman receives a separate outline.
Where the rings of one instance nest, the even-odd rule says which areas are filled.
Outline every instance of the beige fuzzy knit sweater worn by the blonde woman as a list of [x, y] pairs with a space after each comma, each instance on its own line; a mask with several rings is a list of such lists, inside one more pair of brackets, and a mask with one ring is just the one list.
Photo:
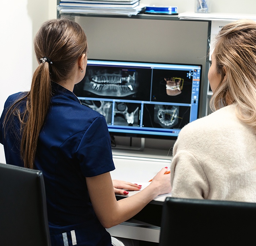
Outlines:
[[235, 105], [182, 128], [173, 156], [173, 197], [256, 202], [256, 135]]

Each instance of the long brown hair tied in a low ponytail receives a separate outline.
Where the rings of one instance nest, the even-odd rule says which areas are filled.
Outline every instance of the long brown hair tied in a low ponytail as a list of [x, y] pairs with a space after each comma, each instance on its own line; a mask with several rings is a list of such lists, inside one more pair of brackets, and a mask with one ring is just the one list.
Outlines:
[[[87, 53], [87, 38], [82, 27], [74, 20], [54, 19], [42, 24], [34, 39], [39, 66], [35, 70], [31, 89], [7, 111], [4, 127], [17, 116], [22, 138], [20, 156], [27, 168], [34, 168], [39, 132], [44, 124], [52, 96], [51, 82], [65, 81], [78, 58]], [[41, 58], [50, 60], [43, 62]], [[51, 63], [52, 62], [52, 63]], [[25, 111], [19, 104], [26, 100]]]

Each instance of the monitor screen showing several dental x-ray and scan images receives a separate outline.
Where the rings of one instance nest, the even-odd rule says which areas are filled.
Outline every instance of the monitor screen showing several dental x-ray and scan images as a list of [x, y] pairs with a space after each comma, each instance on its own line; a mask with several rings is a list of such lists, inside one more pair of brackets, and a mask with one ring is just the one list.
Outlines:
[[201, 65], [88, 60], [74, 93], [110, 134], [177, 138], [199, 111]]

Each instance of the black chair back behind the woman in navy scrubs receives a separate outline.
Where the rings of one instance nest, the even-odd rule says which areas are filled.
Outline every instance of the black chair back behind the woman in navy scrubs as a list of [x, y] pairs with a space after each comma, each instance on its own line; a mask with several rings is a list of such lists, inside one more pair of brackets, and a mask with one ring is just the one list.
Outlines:
[[50, 246], [41, 171], [0, 164], [0, 245]]

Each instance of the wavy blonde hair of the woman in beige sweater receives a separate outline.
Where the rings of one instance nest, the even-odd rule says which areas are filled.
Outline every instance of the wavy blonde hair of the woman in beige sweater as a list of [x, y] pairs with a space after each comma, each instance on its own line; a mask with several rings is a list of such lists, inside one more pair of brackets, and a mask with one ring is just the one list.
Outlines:
[[222, 27], [214, 55], [221, 82], [210, 101], [212, 110], [236, 104], [238, 118], [256, 128], [256, 22], [238, 20]]

